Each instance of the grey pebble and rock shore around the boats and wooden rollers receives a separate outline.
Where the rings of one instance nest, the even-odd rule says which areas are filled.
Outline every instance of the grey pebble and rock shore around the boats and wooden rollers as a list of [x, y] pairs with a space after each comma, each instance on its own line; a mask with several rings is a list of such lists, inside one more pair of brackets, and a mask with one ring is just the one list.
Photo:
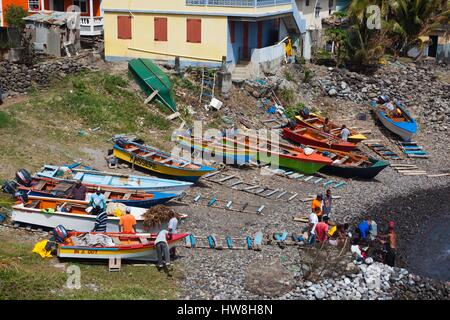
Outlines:
[[[369, 139], [379, 139], [397, 152], [392, 136], [367, 117], [357, 119], [359, 113], [370, 114], [368, 101], [379, 94], [402, 99], [417, 117], [420, 130], [416, 137], [429, 152], [428, 159], [404, 158], [400, 163], [415, 164], [427, 173], [450, 172], [446, 133], [449, 123], [449, 84], [441, 81], [439, 72], [448, 69], [432, 66], [393, 64], [383, 67], [373, 77], [345, 70], [329, 70], [323, 66], [308, 66], [315, 77], [309, 83], [282, 81], [284, 89], [292, 89], [308, 105], [318, 110], [326, 108], [333, 119], [346, 118], [348, 125], [371, 131]], [[292, 74], [300, 77], [292, 68]], [[273, 76], [272, 81], [277, 82]], [[300, 79], [300, 78], [299, 78]], [[345, 82], [345, 84], [342, 84]], [[284, 83], [284, 84], [283, 84]], [[280, 85], [280, 83], [279, 83]], [[363, 90], [366, 88], [366, 90]], [[336, 94], [330, 95], [331, 90]], [[364, 91], [364, 92], [362, 92]], [[330, 97], [331, 96], [331, 97]], [[430, 113], [431, 112], [431, 113]], [[435, 121], [429, 121], [434, 117]], [[368, 154], [379, 157], [362, 147]], [[264, 176], [258, 169], [228, 169], [255, 184], [284, 188], [299, 193], [299, 198], [324, 193], [320, 184], [293, 181], [279, 176]], [[333, 178], [333, 177], [331, 177]], [[336, 177], [334, 177], [336, 178]], [[182, 267], [186, 278], [182, 281], [187, 299], [449, 299], [450, 284], [433, 280], [412, 265], [413, 247], [417, 241], [426, 241], [424, 221], [433, 215], [439, 219], [448, 216], [450, 177], [429, 178], [403, 176], [393, 168], [386, 168], [374, 180], [340, 179], [345, 186], [332, 189], [341, 199], [333, 202], [332, 219], [355, 225], [363, 217], [372, 216], [380, 230], [390, 220], [397, 225], [401, 268], [374, 263], [355, 266], [350, 256], [343, 262], [346, 268], [316, 280], [303, 277], [304, 255], [295, 247], [280, 249], [265, 246], [261, 252], [246, 250], [208, 250], [180, 248]], [[209, 188], [207, 188], [209, 186]], [[437, 191], [435, 191], [437, 190]], [[245, 237], [257, 231], [264, 234], [287, 231], [299, 233], [304, 226], [293, 222], [292, 216], [306, 215], [310, 202], [287, 202], [248, 195], [217, 184], [205, 183], [195, 187], [192, 194], [219, 196], [221, 199], [265, 205], [264, 215], [230, 213], [216, 208], [190, 206], [179, 210], [189, 214], [180, 230], [197, 235], [231, 235]], [[424, 238], [425, 237], [425, 238]], [[432, 257], [429, 258], [432, 260]], [[258, 271], [259, 270], [259, 271]], [[420, 272], [419, 272], [420, 274]]]

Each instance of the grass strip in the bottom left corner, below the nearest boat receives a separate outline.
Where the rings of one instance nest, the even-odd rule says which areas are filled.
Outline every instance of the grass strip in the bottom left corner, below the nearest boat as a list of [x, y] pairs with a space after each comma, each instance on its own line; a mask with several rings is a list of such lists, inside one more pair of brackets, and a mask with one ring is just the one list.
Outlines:
[[120, 272], [109, 272], [107, 263], [76, 263], [81, 288], [70, 289], [66, 284], [71, 274], [56, 268], [55, 260], [32, 253], [33, 245], [0, 235], [0, 300], [177, 298], [176, 280], [181, 273], [176, 267], [170, 277], [154, 266], [125, 264]]

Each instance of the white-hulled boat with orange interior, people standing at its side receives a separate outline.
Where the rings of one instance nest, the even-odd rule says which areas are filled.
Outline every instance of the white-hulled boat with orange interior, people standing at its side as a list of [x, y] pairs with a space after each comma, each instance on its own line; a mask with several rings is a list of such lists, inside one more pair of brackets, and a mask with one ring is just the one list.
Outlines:
[[[29, 196], [25, 203], [17, 203], [12, 206], [12, 221], [45, 228], [63, 225], [68, 230], [91, 231], [95, 225], [96, 215], [86, 212], [88, 206], [88, 201]], [[147, 210], [136, 207], [129, 208], [130, 214], [136, 218], [137, 232], [158, 232], [167, 226], [166, 223], [146, 230], [143, 226], [142, 215]], [[119, 217], [108, 216], [106, 230], [119, 232], [119, 221]]]

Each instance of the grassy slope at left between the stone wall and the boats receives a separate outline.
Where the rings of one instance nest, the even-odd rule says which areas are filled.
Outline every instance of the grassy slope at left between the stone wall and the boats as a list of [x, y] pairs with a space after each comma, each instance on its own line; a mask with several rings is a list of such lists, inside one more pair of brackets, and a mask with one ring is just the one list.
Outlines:
[[12, 178], [21, 167], [34, 171], [44, 163], [89, 163], [96, 159], [85, 148], [106, 155], [112, 147], [107, 140], [118, 133], [132, 133], [166, 149], [174, 126], [157, 106], [144, 105], [128, 82], [102, 72], [80, 74], [0, 110], [0, 178]]

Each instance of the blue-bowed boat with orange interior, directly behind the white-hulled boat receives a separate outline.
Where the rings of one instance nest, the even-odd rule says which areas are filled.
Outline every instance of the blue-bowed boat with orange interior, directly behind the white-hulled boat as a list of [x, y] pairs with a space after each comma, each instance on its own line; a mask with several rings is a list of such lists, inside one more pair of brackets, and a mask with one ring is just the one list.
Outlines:
[[[24, 190], [28, 196], [40, 196], [51, 198], [71, 199], [76, 182], [71, 180], [61, 181], [51, 178], [35, 177], [30, 186], [19, 185], [19, 190]], [[96, 192], [96, 187], [86, 187], [86, 199], [88, 200], [92, 193]], [[106, 202], [123, 203], [130, 207], [150, 208], [157, 204], [163, 204], [176, 197], [173, 193], [163, 192], [141, 192], [134, 190], [123, 190], [114, 188], [100, 188], [105, 196]]]

